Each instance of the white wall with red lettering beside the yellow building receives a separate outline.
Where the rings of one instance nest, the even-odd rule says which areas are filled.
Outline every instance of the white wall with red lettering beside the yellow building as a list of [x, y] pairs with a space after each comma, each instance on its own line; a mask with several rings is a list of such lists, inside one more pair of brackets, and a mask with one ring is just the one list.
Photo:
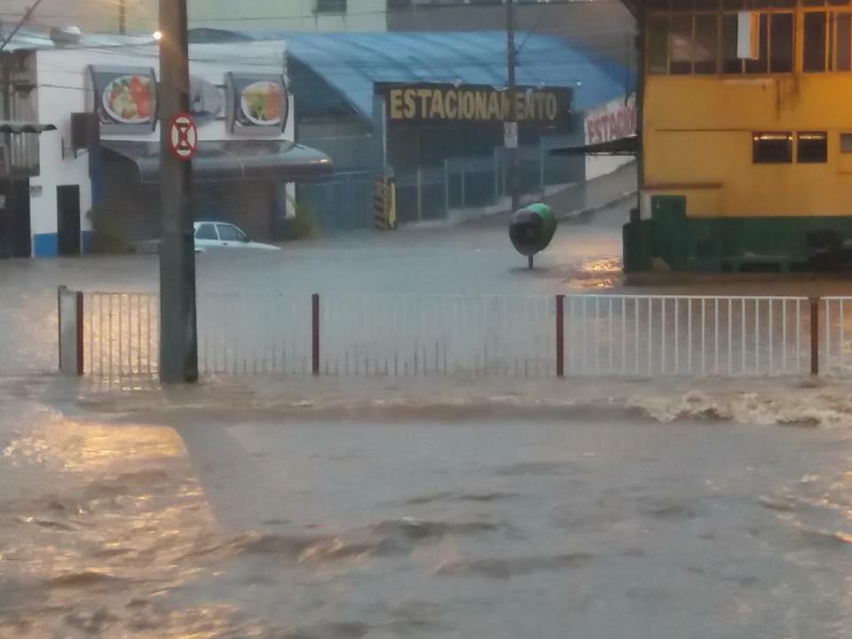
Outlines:
[[[617, 98], [589, 110], [584, 127], [586, 144], [609, 142], [633, 135], [636, 132], [635, 95]], [[630, 155], [587, 155], [586, 179], [607, 175], [634, 160]]]

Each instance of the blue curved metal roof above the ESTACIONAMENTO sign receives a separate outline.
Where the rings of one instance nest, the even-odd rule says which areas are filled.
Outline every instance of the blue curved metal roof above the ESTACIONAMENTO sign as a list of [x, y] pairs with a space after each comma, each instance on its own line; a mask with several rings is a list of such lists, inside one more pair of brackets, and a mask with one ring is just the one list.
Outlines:
[[[241, 32], [240, 36], [287, 41], [288, 56], [310, 67], [367, 120], [373, 111], [374, 83], [507, 84], [502, 31]], [[516, 45], [517, 83], [572, 87], [577, 111], [633, 88], [634, 77], [624, 66], [579, 43], [520, 32]]]

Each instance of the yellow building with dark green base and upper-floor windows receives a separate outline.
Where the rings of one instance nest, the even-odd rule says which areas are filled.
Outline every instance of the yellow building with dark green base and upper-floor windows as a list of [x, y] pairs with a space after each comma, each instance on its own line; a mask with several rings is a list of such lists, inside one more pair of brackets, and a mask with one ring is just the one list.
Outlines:
[[[643, 222], [625, 231], [628, 269], [648, 256], [684, 271], [840, 259], [852, 242], [849, 0], [625, 3], [643, 58]], [[738, 37], [756, 58], [738, 58]]]

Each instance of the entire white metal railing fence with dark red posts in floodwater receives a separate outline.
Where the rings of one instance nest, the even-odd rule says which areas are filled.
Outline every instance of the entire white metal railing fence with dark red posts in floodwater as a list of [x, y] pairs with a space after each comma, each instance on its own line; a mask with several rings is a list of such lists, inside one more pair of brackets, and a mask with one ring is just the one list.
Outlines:
[[[798, 375], [848, 372], [852, 298], [199, 295], [202, 375]], [[83, 368], [156, 375], [150, 293], [83, 296]], [[818, 329], [815, 330], [815, 329]]]

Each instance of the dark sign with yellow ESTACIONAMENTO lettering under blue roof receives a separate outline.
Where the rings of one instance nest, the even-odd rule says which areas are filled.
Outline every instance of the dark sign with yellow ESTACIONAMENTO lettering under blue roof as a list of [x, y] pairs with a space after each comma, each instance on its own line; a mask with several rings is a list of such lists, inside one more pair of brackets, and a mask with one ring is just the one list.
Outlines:
[[[388, 122], [505, 122], [511, 99], [506, 89], [454, 84], [380, 84]], [[555, 125], [571, 114], [570, 89], [517, 87], [517, 122]]]

